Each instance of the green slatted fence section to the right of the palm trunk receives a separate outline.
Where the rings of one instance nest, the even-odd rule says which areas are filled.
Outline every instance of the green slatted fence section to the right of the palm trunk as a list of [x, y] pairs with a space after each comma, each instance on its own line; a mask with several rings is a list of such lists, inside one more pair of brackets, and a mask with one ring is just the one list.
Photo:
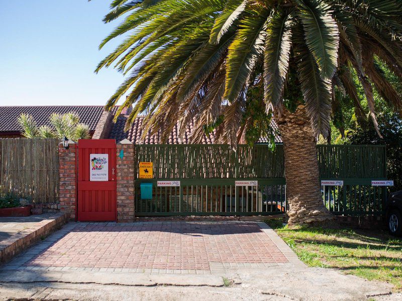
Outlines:
[[386, 180], [385, 145], [318, 145], [321, 180], [342, 180], [343, 186], [322, 187], [323, 201], [335, 215], [382, 215], [387, 188], [371, 186]]

